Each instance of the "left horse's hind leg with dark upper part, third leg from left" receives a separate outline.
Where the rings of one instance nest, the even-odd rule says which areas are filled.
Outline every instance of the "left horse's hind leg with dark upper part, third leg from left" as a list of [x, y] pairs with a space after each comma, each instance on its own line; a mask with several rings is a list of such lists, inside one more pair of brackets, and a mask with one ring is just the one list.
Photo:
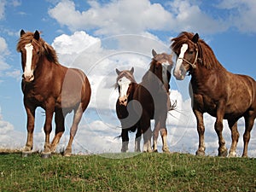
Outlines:
[[56, 149], [58, 143], [60, 142], [61, 136], [62, 136], [63, 132], [65, 131], [65, 125], [64, 125], [65, 116], [66, 116], [66, 114], [63, 114], [61, 108], [57, 109], [55, 111], [56, 128], [55, 128], [55, 137], [52, 140], [51, 147], [50, 147], [51, 152], [55, 152], [55, 149]]

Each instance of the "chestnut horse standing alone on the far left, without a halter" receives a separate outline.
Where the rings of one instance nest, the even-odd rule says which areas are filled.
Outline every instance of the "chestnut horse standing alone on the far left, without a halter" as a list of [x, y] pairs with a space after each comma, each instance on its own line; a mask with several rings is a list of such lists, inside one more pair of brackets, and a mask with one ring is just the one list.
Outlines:
[[[65, 131], [65, 117], [73, 112], [73, 124], [64, 155], [72, 154], [73, 138], [79, 121], [90, 102], [90, 82], [84, 72], [76, 68], [62, 66], [55, 49], [40, 37], [40, 32], [20, 31], [17, 51], [21, 53], [23, 70], [21, 88], [27, 116], [27, 139], [22, 153], [32, 153], [33, 131], [36, 108], [45, 110], [44, 151], [42, 157], [55, 152], [57, 144]], [[55, 113], [55, 137], [49, 143], [52, 119]]]

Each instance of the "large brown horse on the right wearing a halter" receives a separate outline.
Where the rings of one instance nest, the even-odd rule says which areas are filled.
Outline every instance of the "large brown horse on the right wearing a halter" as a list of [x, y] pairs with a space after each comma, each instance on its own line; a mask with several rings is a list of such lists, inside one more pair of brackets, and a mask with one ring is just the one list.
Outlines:
[[241, 117], [245, 119], [242, 156], [247, 157], [250, 131], [256, 117], [255, 80], [227, 71], [198, 33], [181, 32], [177, 38], [172, 38], [171, 49], [177, 55], [173, 71], [176, 79], [183, 80], [187, 72], [191, 75], [190, 96], [199, 135], [199, 146], [195, 154], [205, 155], [203, 113], [209, 113], [216, 117], [214, 129], [218, 135], [218, 156], [228, 155], [222, 135], [223, 119], [228, 120], [231, 131], [229, 157], [236, 156], [239, 138], [237, 120]]

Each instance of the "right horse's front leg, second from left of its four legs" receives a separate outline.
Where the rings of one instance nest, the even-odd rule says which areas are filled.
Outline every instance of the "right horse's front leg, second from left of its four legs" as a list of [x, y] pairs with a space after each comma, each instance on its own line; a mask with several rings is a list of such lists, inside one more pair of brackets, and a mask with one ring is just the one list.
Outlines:
[[214, 124], [214, 129], [218, 135], [218, 156], [226, 157], [228, 154], [228, 149], [225, 147], [225, 140], [222, 135], [223, 131], [223, 119], [224, 119], [224, 103], [220, 102], [217, 109], [216, 122]]

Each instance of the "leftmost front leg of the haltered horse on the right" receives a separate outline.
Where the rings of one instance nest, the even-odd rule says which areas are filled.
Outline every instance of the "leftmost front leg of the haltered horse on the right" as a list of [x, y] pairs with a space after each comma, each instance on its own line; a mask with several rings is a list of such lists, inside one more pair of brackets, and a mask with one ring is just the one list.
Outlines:
[[197, 132], [199, 136], [199, 145], [198, 149], [196, 151], [196, 155], [205, 155], [206, 151], [206, 145], [205, 145], [205, 125], [204, 125], [204, 119], [203, 119], [203, 113], [201, 113], [199, 110], [193, 109], [193, 112], [195, 113], [195, 118], [197, 122]]

